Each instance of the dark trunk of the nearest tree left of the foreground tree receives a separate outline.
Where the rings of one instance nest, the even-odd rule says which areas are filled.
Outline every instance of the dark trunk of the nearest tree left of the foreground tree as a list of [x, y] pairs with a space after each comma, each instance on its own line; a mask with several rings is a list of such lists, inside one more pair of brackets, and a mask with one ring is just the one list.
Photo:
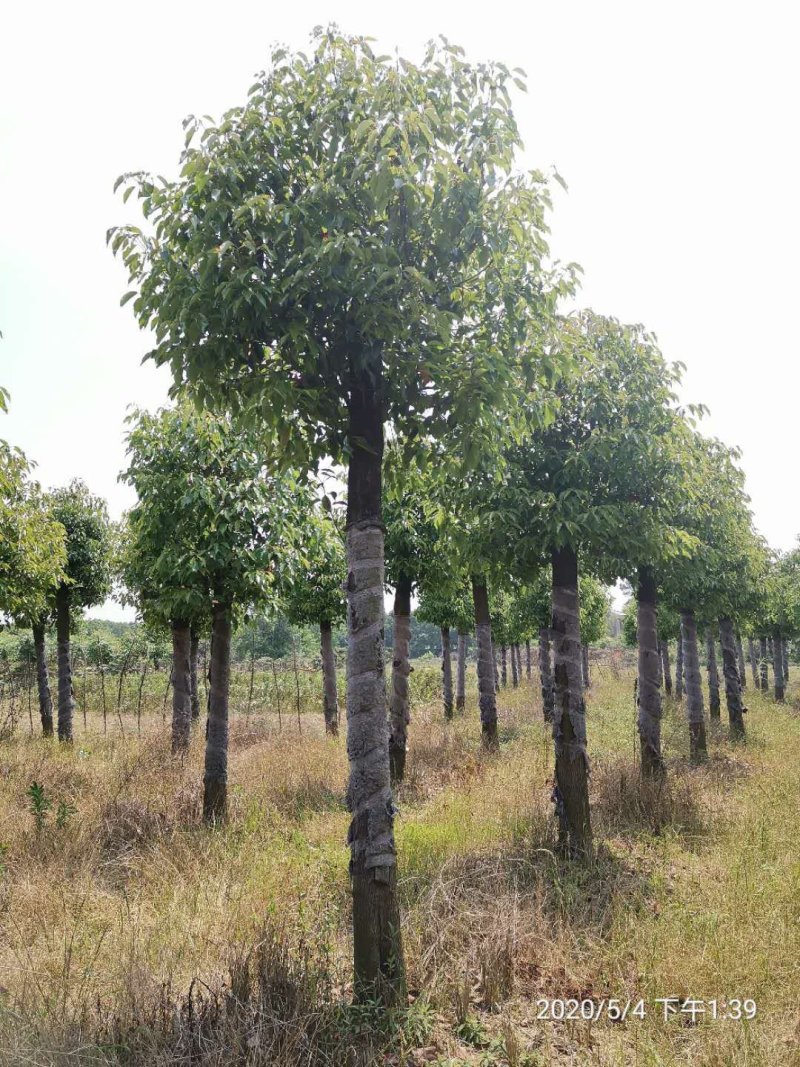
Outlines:
[[228, 803], [228, 700], [230, 695], [230, 610], [215, 604], [211, 617], [208, 723], [203, 778], [203, 818], [222, 823]]

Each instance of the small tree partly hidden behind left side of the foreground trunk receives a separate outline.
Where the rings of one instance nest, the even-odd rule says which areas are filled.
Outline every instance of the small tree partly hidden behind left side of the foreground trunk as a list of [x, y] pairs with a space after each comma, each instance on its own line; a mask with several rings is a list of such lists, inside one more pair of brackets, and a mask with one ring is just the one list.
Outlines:
[[[327, 497], [324, 497], [327, 500]], [[303, 563], [278, 579], [281, 603], [290, 622], [319, 626], [322, 660], [322, 710], [326, 733], [339, 732], [339, 698], [333, 627], [345, 621], [343, 524], [324, 508], [308, 507], [301, 516]]]

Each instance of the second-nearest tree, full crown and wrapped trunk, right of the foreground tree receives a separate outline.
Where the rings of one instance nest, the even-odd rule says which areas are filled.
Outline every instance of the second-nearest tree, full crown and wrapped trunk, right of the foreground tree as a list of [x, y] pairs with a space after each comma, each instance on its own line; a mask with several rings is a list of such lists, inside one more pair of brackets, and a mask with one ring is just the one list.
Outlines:
[[[573, 369], [556, 387], [555, 418], [509, 449], [507, 475], [487, 508], [523, 580], [549, 558], [554, 795], [562, 845], [586, 855], [591, 826], [578, 560], [610, 580], [681, 542], [656, 507], [666, 473], [676, 467], [670, 434], [678, 369], [665, 363], [641, 328], [592, 312], [565, 319], [558, 341]], [[652, 655], [657, 668], [655, 648]], [[660, 701], [655, 711], [657, 724]]]

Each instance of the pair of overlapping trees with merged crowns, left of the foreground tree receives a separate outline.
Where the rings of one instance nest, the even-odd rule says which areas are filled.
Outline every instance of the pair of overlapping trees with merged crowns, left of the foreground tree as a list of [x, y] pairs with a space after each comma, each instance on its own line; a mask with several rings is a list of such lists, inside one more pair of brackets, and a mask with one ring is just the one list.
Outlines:
[[189, 744], [190, 627], [211, 617], [203, 815], [227, 812], [230, 634], [263, 605], [278, 561], [290, 566], [294, 501], [291, 473], [270, 474], [257, 434], [191, 404], [138, 411], [128, 433], [127, 469], [137, 505], [128, 513], [124, 579], [148, 621], [173, 635], [173, 749]]

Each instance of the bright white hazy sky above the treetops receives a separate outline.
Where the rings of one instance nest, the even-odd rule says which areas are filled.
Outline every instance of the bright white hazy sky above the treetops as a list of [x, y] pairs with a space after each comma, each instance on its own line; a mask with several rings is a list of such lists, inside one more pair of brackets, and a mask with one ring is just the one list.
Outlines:
[[45, 485], [84, 478], [118, 515], [129, 403], [165, 372], [106, 229], [129, 217], [127, 170], [176, 172], [181, 120], [242, 102], [269, 45], [335, 20], [417, 57], [444, 33], [469, 58], [525, 68], [525, 162], [555, 164], [551, 249], [585, 269], [580, 302], [654, 331], [687, 365], [705, 430], [743, 450], [756, 523], [800, 532], [797, 62], [787, 2], [227, 0], [7, 5], [0, 59], [0, 435]]

